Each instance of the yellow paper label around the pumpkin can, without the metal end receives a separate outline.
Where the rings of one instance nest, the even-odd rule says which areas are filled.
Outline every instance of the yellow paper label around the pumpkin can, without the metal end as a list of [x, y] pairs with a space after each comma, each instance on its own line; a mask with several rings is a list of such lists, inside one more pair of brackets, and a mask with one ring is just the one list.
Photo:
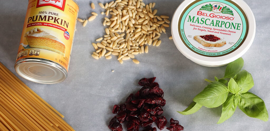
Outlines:
[[73, 0], [29, 0], [16, 61], [41, 58], [68, 71], [78, 11]]

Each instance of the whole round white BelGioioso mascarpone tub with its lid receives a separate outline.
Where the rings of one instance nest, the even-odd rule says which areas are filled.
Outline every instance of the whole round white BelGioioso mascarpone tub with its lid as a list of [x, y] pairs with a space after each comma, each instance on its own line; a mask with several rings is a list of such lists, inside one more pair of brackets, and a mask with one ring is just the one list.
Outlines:
[[171, 23], [177, 49], [208, 67], [241, 57], [251, 46], [255, 29], [254, 15], [242, 0], [185, 0]]

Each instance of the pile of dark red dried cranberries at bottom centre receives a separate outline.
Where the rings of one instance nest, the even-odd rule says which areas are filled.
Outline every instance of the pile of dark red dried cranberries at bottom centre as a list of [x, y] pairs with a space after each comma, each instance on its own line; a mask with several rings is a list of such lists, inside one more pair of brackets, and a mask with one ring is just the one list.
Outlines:
[[[126, 102], [113, 106], [113, 114], [117, 114], [109, 123], [109, 128], [113, 131], [123, 131], [121, 123], [126, 121], [127, 131], [139, 131], [140, 125], [145, 128], [143, 131], [156, 131], [152, 128], [153, 122], [157, 124], [157, 128], [162, 130], [167, 124], [164, 116], [158, 117], [163, 113], [162, 107], [166, 104], [163, 99], [163, 90], [159, 88], [156, 77], [142, 78], [139, 85], [143, 86], [137, 93], [130, 94]], [[118, 122], [117, 122], [118, 121]], [[179, 122], [170, 119], [170, 131], [184, 130]]]

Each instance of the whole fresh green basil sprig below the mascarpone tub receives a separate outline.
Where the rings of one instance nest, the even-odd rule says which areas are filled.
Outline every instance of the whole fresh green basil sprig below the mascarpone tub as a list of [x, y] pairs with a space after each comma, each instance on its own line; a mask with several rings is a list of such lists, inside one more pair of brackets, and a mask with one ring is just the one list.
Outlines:
[[[188, 108], [178, 112], [189, 115], [197, 112], [202, 106], [215, 108], [222, 105], [221, 117], [217, 122], [222, 123], [234, 114], [238, 106], [249, 117], [268, 121], [264, 101], [248, 92], [254, 86], [254, 81], [248, 71], [241, 71], [243, 66], [244, 60], [239, 58], [227, 65], [223, 78], [214, 77], [215, 81], [205, 79], [210, 83], [194, 97]], [[226, 79], [230, 79], [229, 82]]]

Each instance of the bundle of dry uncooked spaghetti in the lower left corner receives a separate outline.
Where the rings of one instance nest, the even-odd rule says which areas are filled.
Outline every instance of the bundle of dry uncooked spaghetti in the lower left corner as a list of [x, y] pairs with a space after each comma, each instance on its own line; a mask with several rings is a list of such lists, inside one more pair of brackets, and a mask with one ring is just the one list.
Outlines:
[[0, 62], [0, 130], [74, 130]]

